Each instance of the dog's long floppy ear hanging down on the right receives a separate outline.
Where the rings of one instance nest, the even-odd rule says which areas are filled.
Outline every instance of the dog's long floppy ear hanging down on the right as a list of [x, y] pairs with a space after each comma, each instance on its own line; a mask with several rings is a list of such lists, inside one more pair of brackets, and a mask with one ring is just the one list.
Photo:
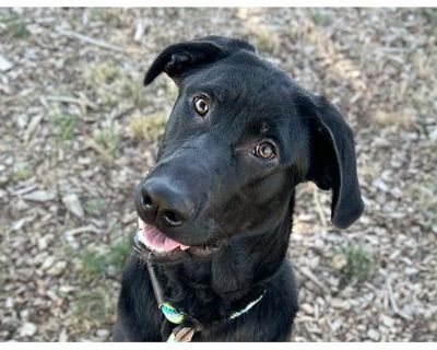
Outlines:
[[305, 96], [299, 109], [310, 125], [310, 163], [307, 179], [332, 189], [331, 221], [346, 229], [363, 213], [352, 130], [324, 97]]

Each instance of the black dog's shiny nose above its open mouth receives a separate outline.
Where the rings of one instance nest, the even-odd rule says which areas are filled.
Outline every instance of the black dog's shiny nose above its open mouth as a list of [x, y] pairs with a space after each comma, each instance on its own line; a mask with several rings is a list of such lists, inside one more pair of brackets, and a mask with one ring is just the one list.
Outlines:
[[165, 178], [151, 178], [141, 188], [141, 205], [157, 225], [176, 228], [187, 222], [194, 203], [187, 194]]

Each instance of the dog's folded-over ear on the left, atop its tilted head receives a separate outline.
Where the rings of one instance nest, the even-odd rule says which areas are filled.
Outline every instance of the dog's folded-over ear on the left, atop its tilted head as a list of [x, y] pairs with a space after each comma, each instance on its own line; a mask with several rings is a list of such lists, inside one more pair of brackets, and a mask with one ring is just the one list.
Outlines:
[[178, 84], [189, 69], [215, 62], [238, 50], [256, 51], [253, 46], [246, 42], [222, 36], [205, 36], [168, 46], [153, 61], [145, 74], [144, 85], [150, 84], [163, 71]]

